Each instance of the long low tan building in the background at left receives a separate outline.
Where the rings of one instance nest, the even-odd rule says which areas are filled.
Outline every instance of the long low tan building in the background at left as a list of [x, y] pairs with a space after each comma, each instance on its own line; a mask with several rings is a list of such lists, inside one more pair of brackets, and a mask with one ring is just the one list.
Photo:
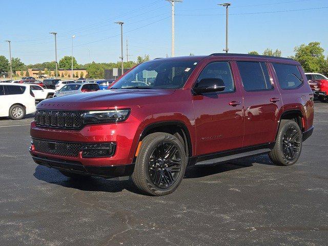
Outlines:
[[[38, 77], [40, 75], [45, 75], [49, 77], [54, 77], [56, 76], [56, 71], [54, 69], [50, 70], [39, 70], [36, 68], [29, 68], [28, 69], [29, 76], [31, 77]], [[81, 69], [73, 69], [73, 77], [79, 78], [79, 77], [86, 77], [87, 76], [87, 70], [84, 68]], [[26, 76], [26, 71], [16, 71], [16, 76], [22, 76], [22, 77], [27, 77]], [[72, 77], [72, 70], [67, 70], [67, 69], [58, 69], [58, 77], [61, 78], [71, 78]]]

